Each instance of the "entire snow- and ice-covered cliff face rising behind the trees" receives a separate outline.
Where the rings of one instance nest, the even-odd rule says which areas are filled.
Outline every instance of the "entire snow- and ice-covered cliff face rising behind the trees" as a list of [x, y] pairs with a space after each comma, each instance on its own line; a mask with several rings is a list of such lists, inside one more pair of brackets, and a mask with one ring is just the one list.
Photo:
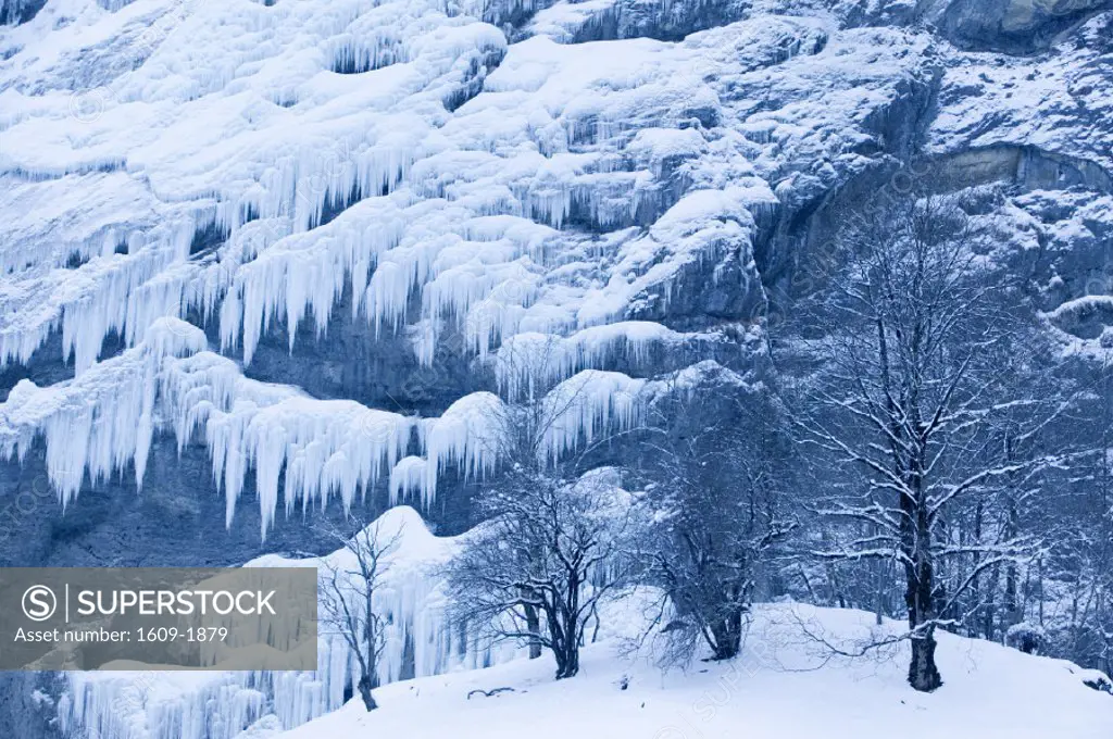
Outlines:
[[760, 374], [835, 206], [907, 177], [1113, 343], [1109, 4], [4, 0], [0, 561], [460, 530], [496, 396], [587, 388], [558, 454]]

